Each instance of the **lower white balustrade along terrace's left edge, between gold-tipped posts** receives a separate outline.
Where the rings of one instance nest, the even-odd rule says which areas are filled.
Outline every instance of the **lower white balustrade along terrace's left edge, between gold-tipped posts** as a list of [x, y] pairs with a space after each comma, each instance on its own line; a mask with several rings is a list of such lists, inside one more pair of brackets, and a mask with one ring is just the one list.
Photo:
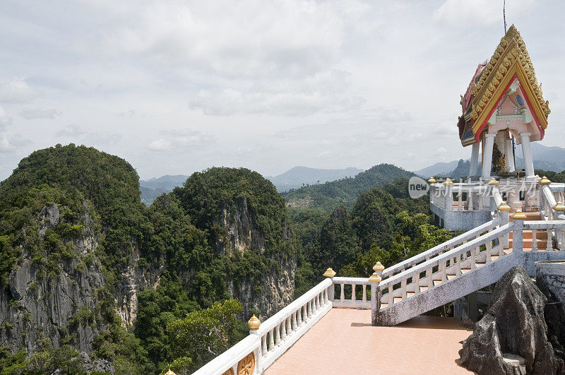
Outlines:
[[332, 302], [328, 298], [328, 289], [333, 285], [326, 278], [294, 302], [278, 311], [277, 314], [261, 323], [257, 335], [261, 340], [259, 350], [259, 371], [267, 369], [292, 344], [304, 335], [322, 316], [331, 310]]

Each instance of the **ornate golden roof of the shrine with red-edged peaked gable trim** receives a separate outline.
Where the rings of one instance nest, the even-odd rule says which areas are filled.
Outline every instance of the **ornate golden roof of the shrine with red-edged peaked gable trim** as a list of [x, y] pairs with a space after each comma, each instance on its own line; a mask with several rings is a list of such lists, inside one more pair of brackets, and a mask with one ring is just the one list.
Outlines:
[[478, 75], [475, 73], [475, 79], [471, 81], [468, 93], [465, 94], [465, 97], [470, 95], [468, 103], [463, 104], [463, 98], [461, 100], [463, 116], [460, 117], [459, 126], [462, 141], [464, 129], [472, 129], [473, 135], [477, 138], [477, 133], [484, 129], [497, 102], [506, 93], [515, 77], [522, 85], [532, 112], [537, 118], [537, 124], [542, 129], [547, 128], [547, 116], [551, 112], [549, 102], [543, 98], [542, 87], [537, 83], [530, 54], [514, 25], [511, 25], [506, 35], [502, 37], [488, 64], [482, 71], [480, 69], [482, 66], [477, 69]]

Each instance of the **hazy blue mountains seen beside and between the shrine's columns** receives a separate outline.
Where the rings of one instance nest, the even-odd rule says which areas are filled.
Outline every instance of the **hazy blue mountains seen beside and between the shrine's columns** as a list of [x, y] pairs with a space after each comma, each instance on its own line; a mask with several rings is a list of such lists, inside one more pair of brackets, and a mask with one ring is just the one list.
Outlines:
[[[543, 169], [553, 172], [562, 172], [565, 170], [565, 148], [557, 146], [548, 147], [540, 145], [538, 142], [533, 142], [531, 148], [535, 169]], [[464, 164], [460, 164], [461, 162]], [[453, 160], [451, 162], [436, 162], [436, 164], [414, 171], [414, 173], [426, 179], [431, 176], [459, 178], [468, 174], [469, 167], [470, 160], [462, 159]], [[516, 167], [518, 169], [522, 169], [524, 167], [522, 148], [520, 145], [516, 146]]]

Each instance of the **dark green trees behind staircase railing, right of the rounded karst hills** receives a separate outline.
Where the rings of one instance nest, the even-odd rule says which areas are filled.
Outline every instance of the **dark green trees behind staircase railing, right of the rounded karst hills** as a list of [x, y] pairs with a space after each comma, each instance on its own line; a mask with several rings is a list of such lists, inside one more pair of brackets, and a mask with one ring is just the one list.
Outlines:
[[367, 277], [376, 261], [392, 266], [451, 238], [432, 224], [429, 198], [412, 199], [407, 188], [408, 179], [397, 179], [362, 193], [351, 210], [338, 206], [330, 215], [315, 206], [291, 209], [302, 250], [297, 294], [319, 282], [328, 267]]

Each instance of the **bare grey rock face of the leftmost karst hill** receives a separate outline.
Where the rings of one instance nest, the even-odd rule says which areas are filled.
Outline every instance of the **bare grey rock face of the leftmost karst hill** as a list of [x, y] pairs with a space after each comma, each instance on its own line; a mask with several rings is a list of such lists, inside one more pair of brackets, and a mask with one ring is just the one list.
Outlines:
[[[59, 225], [59, 207], [44, 207], [37, 222], [38, 234], [44, 239], [47, 230], [55, 230]], [[57, 273], [46, 272], [44, 264], [22, 246], [23, 261], [0, 293], [1, 343], [13, 350], [21, 345], [33, 352], [42, 338], [49, 338], [58, 347], [61, 339], [74, 335], [79, 350], [92, 352], [93, 339], [100, 330], [93, 311], [104, 278], [100, 261], [93, 256], [98, 238], [88, 213], [83, 215], [83, 222], [84, 237], [65, 242], [78, 256], [60, 261]], [[83, 261], [85, 258], [88, 261]]]

